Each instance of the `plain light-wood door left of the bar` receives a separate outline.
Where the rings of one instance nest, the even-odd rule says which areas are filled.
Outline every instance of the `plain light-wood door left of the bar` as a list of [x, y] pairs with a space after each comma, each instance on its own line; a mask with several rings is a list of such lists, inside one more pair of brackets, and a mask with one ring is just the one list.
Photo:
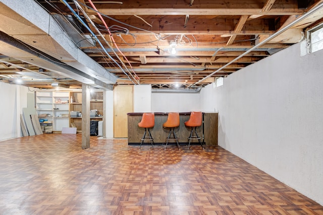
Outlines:
[[128, 115], [133, 112], [133, 87], [116, 86], [113, 90], [114, 137], [128, 137]]

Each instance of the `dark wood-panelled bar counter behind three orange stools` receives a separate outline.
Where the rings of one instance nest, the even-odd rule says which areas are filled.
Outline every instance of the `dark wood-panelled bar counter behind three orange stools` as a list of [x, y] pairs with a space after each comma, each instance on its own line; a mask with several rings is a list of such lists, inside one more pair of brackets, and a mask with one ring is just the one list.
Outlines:
[[[154, 113], [155, 126], [150, 128], [155, 144], [163, 144], [169, 134], [169, 129], [164, 128], [163, 124], [167, 121], [168, 113]], [[190, 135], [191, 128], [186, 127], [184, 122], [190, 117], [190, 112], [180, 113], [180, 126], [175, 128], [176, 135], [180, 144], [186, 144]], [[196, 131], [206, 146], [218, 145], [218, 113], [202, 113], [202, 125]], [[128, 145], [139, 145], [144, 133], [144, 128], [138, 126], [141, 121], [142, 113], [128, 113]], [[172, 141], [171, 143], [173, 143]], [[198, 142], [195, 140], [194, 142]], [[145, 142], [146, 143], [146, 142]]]

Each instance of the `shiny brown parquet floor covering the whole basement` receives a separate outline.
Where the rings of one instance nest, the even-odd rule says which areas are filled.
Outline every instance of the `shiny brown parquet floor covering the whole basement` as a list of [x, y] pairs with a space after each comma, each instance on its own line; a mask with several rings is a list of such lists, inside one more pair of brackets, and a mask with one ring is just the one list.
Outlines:
[[0, 142], [0, 214], [323, 214], [220, 147], [42, 134]]

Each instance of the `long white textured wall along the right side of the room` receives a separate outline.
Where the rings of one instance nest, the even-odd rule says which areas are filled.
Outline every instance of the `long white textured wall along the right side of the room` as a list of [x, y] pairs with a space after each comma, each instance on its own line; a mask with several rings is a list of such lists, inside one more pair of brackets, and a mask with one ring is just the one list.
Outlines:
[[202, 110], [219, 111], [221, 147], [321, 205], [322, 59], [295, 44], [201, 90]]

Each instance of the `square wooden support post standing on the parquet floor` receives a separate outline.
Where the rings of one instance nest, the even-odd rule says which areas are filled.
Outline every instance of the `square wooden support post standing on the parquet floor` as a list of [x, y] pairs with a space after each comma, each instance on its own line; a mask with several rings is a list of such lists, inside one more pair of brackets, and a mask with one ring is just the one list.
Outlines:
[[82, 84], [82, 149], [90, 148], [90, 86]]

